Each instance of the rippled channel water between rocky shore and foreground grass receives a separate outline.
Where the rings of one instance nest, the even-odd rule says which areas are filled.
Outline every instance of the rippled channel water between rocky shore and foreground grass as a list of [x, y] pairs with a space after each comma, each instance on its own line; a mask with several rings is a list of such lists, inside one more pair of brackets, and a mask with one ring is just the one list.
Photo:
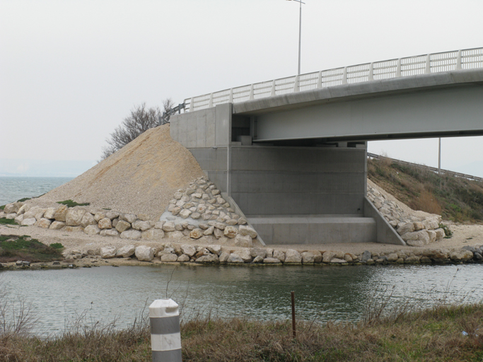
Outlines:
[[[132, 322], [146, 303], [166, 297], [172, 266], [97, 267], [42, 271], [4, 271], [1, 288], [11, 300], [23, 296], [40, 321], [36, 332], [56, 333], [76, 316], [118, 325]], [[388, 298], [419, 307], [438, 298], [483, 300], [483, 265], [358, 267], [177, 267], [168, 297], [183, 305], [189, 317], [198, 311], [220, 316], [285, 320], [290, 291], [305, 320], [361, 318], [367, 301]]]

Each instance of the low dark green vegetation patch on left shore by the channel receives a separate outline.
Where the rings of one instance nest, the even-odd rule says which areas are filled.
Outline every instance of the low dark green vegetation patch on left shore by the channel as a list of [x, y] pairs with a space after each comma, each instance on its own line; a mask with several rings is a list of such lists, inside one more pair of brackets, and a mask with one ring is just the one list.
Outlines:
[[0, 262], [16, 262], [20, 259], [28, 262], [51, 262], [63, 258], [58, 247], [47, 246], [28, 235], [0, 235]]

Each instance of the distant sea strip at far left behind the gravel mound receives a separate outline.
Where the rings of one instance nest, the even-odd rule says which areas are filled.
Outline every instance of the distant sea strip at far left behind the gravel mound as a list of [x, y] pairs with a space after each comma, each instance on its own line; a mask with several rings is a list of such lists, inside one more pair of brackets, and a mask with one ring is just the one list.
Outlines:
[[0, 205], [39, 197], [74, 177], [0, 177]]

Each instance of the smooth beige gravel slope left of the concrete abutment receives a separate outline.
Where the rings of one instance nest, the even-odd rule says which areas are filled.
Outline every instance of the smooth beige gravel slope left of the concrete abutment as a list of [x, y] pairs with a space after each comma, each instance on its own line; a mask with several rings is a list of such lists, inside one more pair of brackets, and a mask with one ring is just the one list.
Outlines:
[[31, 203], [59, 206], [56, 202], [71, 199], [100, 209], [147, 214], [157, 220], [176, 190], [202, 176], [197, 160], [171, 139], [169, 124], [164, 124]]

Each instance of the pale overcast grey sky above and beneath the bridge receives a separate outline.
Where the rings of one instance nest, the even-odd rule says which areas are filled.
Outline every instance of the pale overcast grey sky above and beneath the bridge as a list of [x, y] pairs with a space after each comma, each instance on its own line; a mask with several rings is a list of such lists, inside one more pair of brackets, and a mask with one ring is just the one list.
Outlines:
[[[482, 0], [306, 3], [302, 73], [483, 47]], [[0, 0], [0, 175], [78, 175], [134, 105], [291, 76], [297, 52], [295, 1]], [[443, 139], [441, 166], [483, 177], [482, 141]], [[369, 151], [438, 163], [437, 139]]]

